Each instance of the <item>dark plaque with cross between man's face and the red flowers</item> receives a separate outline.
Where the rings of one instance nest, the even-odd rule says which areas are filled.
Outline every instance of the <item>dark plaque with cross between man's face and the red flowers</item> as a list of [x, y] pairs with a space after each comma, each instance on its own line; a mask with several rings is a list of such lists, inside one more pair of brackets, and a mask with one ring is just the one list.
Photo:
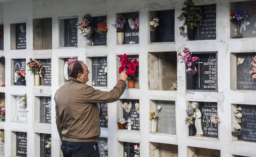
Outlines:
[[107, 57], [92, 57], [92, 86], [108, 86], [107, 64]]

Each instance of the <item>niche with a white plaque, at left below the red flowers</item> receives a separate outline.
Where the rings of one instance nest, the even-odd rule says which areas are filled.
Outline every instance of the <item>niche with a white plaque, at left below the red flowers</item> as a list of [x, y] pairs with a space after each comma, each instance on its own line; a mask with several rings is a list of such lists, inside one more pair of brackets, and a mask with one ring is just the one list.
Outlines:
[[27, 106], [23, 103], [24, 95], [11, 95], [11, 121], [19, 123], [28, 122]]

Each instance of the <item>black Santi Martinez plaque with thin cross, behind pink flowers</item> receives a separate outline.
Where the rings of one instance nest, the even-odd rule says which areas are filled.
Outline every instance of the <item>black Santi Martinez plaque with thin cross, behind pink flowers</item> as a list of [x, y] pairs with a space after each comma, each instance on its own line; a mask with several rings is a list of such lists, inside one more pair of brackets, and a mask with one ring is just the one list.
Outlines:
[[[218, 91], [217, 52], [193, 52], [200, 58], [195, 62], [198, 72], [187, 75], [187, 90]], [[187, 69], [187, 68], [186, 68]]]

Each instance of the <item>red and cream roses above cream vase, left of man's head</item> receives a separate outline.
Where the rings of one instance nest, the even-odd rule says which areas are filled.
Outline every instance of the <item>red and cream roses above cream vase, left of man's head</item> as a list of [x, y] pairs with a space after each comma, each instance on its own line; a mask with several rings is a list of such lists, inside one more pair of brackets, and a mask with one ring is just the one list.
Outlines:
[[30, 71], [33, 75], [39, 75], [42, 77], [44, 75], [44, 64], [41, 60], [38, 62], [33, 60], [32, 58], [29, 59], [29, 62], [27, 63], [27, 66], [29, 67], [28, 71]]

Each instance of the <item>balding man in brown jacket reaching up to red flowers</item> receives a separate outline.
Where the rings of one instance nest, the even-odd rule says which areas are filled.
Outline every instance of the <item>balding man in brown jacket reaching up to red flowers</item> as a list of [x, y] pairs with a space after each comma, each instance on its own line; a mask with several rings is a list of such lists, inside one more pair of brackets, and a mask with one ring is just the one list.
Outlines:
[[88, 82], [88, 67], [81, 61], [68, 66], [69, 79], [55, 93], [56, 124], [64, 157], [99, 157], [96, 143], [100, 136], [100, 118], [97, 103], [115, 102], [125, 91], [127, 75], [111, 91], [100, 91]]

